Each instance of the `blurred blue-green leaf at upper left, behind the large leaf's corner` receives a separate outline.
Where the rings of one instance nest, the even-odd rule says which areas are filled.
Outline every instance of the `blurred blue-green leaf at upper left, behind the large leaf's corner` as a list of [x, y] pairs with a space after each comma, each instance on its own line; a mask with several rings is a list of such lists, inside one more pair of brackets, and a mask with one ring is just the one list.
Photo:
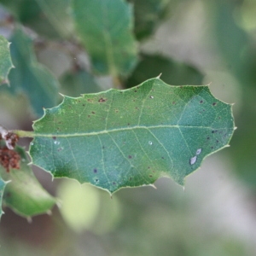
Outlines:
[[43, 108], [51, 108], [58, 100], [58, 81], [36, 61], [32, 40], [20, 29], [15, 30], [10, 40], [11, 55], [15, 69], [9, 73], [12, 94], [25, 94], [34, 113], [41, 115]]

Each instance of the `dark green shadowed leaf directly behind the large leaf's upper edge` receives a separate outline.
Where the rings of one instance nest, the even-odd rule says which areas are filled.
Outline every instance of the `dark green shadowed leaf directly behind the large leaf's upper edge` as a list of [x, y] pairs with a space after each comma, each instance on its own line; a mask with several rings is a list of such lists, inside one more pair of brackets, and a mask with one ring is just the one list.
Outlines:
[[203, 79], [201, 72], [188, 64], [161, 55], [142, 55], [137, 67], [126, 80], [125, 87], [143, 83], [149, 79], [148, 74], [158, 76], [160, 73], [168, 84], [201, 84]]

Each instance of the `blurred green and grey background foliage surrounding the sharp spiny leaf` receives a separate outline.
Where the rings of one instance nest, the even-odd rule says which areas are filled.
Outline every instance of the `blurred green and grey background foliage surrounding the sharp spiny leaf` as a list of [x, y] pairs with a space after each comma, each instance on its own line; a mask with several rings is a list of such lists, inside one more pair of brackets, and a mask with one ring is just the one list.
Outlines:
[[[16, 74], [10, 73], [11, 87], [0, 88], [1, 124], [9, 129], [31, 130], [32, 120], [42, 113], [38, 102], [44, 108], [61, 102], [56, 91], [79, 96], [113, 84], [111, 76], [91, 72], [70, 2], [0, 0], [0, 32], [12, 42], [16, 67]], [[5, 208], [0, 254], [255, 255], [255, 1], [127, 2], [133, 5], [138, 61], [128, 77], [114, 78], [119, 87], [160, 73], [168, 84], [210, 84], [214, 96], [235, 103], [238, 129], [231, 147], [189, 176], [185, 192], [161, 178], [155, 183], [158, 189], [122, 189], [111, 199], [88, 184], [52, 182], [34, 168], [62, 207], [55, 207], [51, 216], [32, 218], [32, 223]], [[17, 81], [20, 86], [13, 86]], [[29, 141], [21, 143], [27, 147]]]

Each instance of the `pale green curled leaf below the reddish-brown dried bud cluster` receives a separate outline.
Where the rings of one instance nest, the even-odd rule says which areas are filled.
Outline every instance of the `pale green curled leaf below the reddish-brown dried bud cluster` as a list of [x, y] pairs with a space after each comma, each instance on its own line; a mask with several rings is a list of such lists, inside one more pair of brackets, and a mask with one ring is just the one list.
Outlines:
[[10, 181], [4, 190], [4, 204], [24, 217], [49, 212], [55, 205], [55, 198], [38, 183], [31, 167], [27, 166], [25, 150], [16, 147], [15, 152], [20, 154], [20, 169], [6, 172], [3, 166], [0, 166], [0, 173], [4, 180]]

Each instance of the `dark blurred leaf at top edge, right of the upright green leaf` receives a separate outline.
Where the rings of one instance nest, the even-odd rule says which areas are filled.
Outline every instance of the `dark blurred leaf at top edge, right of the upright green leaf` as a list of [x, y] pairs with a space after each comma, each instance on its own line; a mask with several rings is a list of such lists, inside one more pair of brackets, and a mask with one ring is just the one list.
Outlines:
[[130, 0], [130, 2], [134, 5], [135, 34], [138, 40], [152, 35], [156, 26], [163, 20], [170, 4], [169, 0]]

